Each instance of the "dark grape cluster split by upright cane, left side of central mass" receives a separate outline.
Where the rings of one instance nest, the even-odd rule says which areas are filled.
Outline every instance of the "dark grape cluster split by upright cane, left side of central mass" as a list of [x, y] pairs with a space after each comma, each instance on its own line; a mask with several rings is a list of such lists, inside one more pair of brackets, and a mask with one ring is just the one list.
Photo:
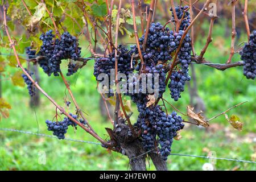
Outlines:
[[[133, 73], [135, 61], [132, 60], [133, 53], [123, 46], [118, 46], [118, 73], [123, 73], [128, 78], [130, 73]], [[114, 96], [113, 89], [110, 86], [114, 85], [114, 69], [115, 69], [115, 56], [114, 52], [106, 57], [100, 57], [94, 64], [94, 73], [97, 81], [103, 81], [105, 76], [108, 76], [108, 97]], [[105, 76], [100, 75], [101, 73], [106, 74]], [[102, 77], [103, 76], [103, 77]], [[106, 85], [107, 86], [107, 85]]]

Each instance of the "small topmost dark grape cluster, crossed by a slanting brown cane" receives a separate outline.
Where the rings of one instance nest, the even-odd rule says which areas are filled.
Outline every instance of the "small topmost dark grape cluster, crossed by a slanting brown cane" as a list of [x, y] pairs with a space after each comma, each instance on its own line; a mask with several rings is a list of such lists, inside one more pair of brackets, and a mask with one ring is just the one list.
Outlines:
[[[176, 6], [175, 11], [177, 14], [177, 19], [181, 20], [179, 30], [185, 30], [191, 23], [190, 13], [188, 11], [189, 6]], [[174, 13], [172, 8], [170, 9], [172, 12], [172, 22], [175, 22]]]

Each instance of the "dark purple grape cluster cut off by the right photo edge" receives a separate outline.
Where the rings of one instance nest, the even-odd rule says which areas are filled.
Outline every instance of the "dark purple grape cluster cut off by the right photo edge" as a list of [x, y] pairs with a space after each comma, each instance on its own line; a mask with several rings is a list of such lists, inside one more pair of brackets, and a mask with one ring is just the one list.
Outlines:
[[250, 35], [249, 42], [245, 44], [240, 51], [241, 60], [245, 61], [243, 65], [243, 75], [247, 79], [253, 79], [256, 75], [256, 30]]

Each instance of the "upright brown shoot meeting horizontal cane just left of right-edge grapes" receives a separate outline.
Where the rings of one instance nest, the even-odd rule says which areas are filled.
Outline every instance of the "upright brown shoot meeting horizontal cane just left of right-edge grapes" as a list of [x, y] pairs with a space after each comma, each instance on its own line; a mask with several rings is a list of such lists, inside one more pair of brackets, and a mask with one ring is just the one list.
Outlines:
[[234, 43], [235, 43], [235, 38], [237, 35], [236, 32], [236, 0], [232, 0], [232, 37], [231, 37], [231, 48], [230, 48], [230, 54], [229, 54], [229, 59], [226, 61], [226, 63], [231, 63], [232, 57], [234, 55]]

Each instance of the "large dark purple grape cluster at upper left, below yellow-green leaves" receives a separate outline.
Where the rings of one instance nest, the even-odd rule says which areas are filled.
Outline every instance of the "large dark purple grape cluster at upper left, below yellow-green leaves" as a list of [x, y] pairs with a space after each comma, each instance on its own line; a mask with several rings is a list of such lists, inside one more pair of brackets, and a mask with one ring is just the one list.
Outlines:
[[77, 60], [80, 57], [81, 48], [77, 38], [69, 32], [64, 32], [60, 39], [53, 39], [53, 37], [52, 30], [40, 36], [43, 45], [40, 47], [38, 56], [44, 56], [44, 58], [39, 59], [39, 65], [48, 76], [52, 73], [54, 76], [59, 76], [61, 60]]

